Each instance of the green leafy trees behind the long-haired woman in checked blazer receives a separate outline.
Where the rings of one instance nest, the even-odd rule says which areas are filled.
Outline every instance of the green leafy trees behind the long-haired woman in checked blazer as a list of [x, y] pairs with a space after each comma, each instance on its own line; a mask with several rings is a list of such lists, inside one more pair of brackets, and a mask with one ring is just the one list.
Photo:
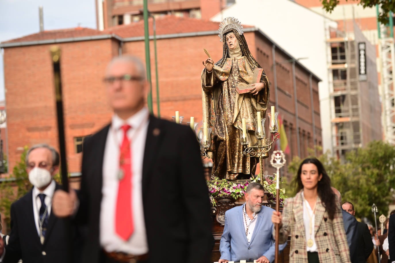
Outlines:
[[[394, 200], [395, 185], [395, 146], [382, 141], [374, 141], [365, 148], [346, 154], [341, 163], [329, 153], [318, 157], [331, 178], [332, 185], [342, 194], [342, 202], [354, 204], [355, 216], [366, 217], [372, 222], [372, 204], [378, 208], [377, 217], [388, 214], [388, 204]], [[301, 160], [296, 157], [288, 166], [296, 174]], [[291, 185], [295, 189], [294, 185]], [[288, 190], [290, 196], [295, 190]]]

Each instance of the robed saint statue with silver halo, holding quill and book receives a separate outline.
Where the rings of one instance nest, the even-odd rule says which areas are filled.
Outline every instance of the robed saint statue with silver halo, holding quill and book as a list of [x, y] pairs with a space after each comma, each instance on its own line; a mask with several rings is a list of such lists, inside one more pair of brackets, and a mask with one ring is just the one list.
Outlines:
[[[253, 146], [257, 143], [257, 112], [265, 116], [269, 103], [269, 81], [265, 72], [260, 81], [254, 81], [254, 69], [261, 66], [248, 50], [243, 26], [237, 19], [225, 18], [218, 31], [223, 42], [222, 59], [215, 64], [211, 58], [203, 61], [201, 74], [203, 122], [213, 128], [209, 148], [213, 151], [212, 175], [231, 180], [239, 175], [239, 179], [249, 178], [255, 173], [257, 158], [242, 155], [242, 119], [246, 119], [248, 146]], [[239, 94], [239, 83], [250, 85], [252, 90]]]

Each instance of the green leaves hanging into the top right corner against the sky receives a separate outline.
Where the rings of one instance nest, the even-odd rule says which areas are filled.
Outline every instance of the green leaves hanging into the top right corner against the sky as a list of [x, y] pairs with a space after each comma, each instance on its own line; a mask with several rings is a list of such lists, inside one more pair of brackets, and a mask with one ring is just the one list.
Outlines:
[[[346, 0], [348, 1], [348, 0]], [[377, 4], [381, 6], [382, 12], [379, 14], [378, 21], [382, 24], [388, 23], [389, 12], [395, 12], [395, 1], [393, 0], [353, 0], [354, 2], [359, 2], [363, 8], [372, 8]], [[325, 11], [331, 13], [333, 9], [339, 4], [339, 0], [322, 0], [322, 6]], [[350, 0], [351, 2], [351, 0]]]

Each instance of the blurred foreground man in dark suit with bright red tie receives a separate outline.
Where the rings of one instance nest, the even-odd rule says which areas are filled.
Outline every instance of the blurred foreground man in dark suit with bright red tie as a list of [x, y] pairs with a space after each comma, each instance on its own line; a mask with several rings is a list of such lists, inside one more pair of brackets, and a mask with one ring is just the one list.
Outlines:
[[[144, 106], [144, 66], [117, 57], [105, 72], [111, 125], [83, 145], [81, 194], [57, 191], [54, 211], [88, 224], [83, 262], [209, 262], [213, 237], [198, 142]], [[78, 204], [79, 202], [79, 204]]]

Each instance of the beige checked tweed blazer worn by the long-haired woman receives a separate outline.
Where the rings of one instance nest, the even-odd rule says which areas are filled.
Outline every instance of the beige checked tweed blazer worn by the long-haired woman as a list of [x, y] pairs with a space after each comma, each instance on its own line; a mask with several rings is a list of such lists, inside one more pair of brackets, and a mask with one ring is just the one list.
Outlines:
[[[307, 262], [302, 191], [299, 191], [295, 197], [285, 200], [282, 212], [279, 241], [281, 244], [291, 235], [290, 263]], [[335, 200], [334, 202], [338, 201]], [[333, 220], [331, 220], [321, 199], [317, 197], [314, 225], [314, 238], [320, 263], [350, 263], [350, 252], [340, 207]], [[273, 235], [275, 236], [274, 230]]]

